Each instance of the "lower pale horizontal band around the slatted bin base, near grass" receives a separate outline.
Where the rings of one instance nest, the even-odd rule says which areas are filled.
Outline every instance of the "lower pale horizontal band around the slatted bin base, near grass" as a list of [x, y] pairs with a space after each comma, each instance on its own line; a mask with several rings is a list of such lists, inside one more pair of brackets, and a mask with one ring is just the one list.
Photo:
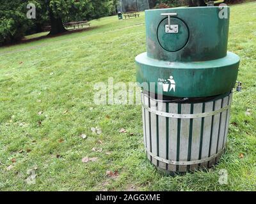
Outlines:
[[193, 164], [202, 164], [202, 163], [205, 163], [207, 161], [211, 161], [211, 159], [214, 159], [218, 156], [221, 156], [221, 154], [225, 151], [225, 148], [220, 150], [217, 154], [214, 154], [212, 155], [211, 157], [207, 157], [205, 159], [200, 159], [200, 160], [195, 160], [195, 161], [172, 161], [172, 160], [168, 160], [168, 159], [163, 159], [159, 156], [156, 156], [154, 154], [152, 154], [152, 152], [148, 152], [147, 151], [147, 154], [149, 154], [150, 156], [152, 156], [154, 159], [158, 160], [158, 161], [161, 161], [163, 163], [166, 163], [166, 164], [174, 164], [174, 165], [193, 165]]

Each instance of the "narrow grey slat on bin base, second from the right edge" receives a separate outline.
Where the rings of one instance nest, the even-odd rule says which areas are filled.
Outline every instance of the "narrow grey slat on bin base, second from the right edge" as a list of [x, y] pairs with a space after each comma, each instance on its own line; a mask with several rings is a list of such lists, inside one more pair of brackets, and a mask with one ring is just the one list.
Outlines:
[[[228, 105], [228, 96], [223, 99], [222, 107]], [[227, 111], [221, 113], [220, 117], [220, 129], [219, 129], [219, 138], [218, 138], [218, 147], [216, 149], [216, 153], [220, 152], [223, 149], [223, 141], [225, 137], [225, 124], [226, 124]], [[216, 163], [219, 161], [220, 156], [216, 157]]]

